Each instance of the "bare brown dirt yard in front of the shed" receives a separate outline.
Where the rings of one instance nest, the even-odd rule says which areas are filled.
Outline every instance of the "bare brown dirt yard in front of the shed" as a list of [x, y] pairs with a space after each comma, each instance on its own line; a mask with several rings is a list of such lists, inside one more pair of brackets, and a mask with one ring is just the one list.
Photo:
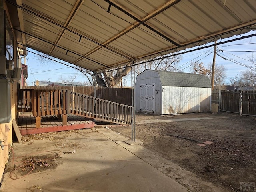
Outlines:
[[[221, 116], [224, 115], [198, 113], [157, 116], [136, 113], [136, 122]], [[238, 192], [240, 182], [256, 181], [256, 120], [254, 117], [244, 116], [224, 117], [139, 124], [136, 125], [136, 138], [149, 150], [193, 172], [203, 180], [208, 180], [229, 191]], [[111, 129], [124, 136], [131, 136], [131, 126], [111, 127]], [[198, 146], [199, 141], [213, 143]], [[183, 184], [182, 179], [177, 178], [172, 171], [172, 168], [169, 168], [167, 175]], [[201, 191], [196, 185], [192, 189]]]

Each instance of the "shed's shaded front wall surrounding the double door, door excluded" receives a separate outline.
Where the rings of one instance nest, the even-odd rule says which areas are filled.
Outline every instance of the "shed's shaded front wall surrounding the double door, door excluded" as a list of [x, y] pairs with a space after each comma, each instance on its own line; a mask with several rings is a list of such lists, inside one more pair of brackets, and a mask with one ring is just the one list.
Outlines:
[[[140, 73], [137, 76], [136, 83], [135, 83], [135, 108], [136, 111], [140, 111], [140, 85], [143, 84], [155, 84], [155, 112], [156, 114], [159, 114], [161, 112], [161, 82], [160, 78], [157, 72], [154, 71], [148, 71], [145, 70], [144, 72]], [[158, 93], [156, 93], [156, 90], [160, 90]]]

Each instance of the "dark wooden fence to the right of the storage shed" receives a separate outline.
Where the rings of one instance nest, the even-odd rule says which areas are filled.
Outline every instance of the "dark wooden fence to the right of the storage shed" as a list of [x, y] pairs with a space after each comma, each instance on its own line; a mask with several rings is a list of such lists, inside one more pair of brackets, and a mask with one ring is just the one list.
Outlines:
[[256, 91], [220, 92], [220, 111], [256, 116]]

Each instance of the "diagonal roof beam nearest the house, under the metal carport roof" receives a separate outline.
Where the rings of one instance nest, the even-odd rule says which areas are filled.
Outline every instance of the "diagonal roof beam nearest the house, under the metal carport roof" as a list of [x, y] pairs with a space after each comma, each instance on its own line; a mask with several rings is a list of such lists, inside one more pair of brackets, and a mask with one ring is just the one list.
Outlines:
[[54, 51], [56, 45], [60, 42], [64, 32], [66, 31], [66, 28], [69, 27], [70, 23], [72, 22], [74, 16], [76, 16], [76, 13], [78, 12], [79, 8], [82, 6], [82, 4], [84, 3], [84, 0], [77, 0], [76, 4], [74, 5], [72, 11], [70, 12], [65, 24], [64, 24], [64, 28], [61, 29], [60, 34], [58, 35], [56, 41], [54, 42], [54, 46], [52, 46], [52, 49], [49, 52], [49, 55], [52, 54], [52, 52]]

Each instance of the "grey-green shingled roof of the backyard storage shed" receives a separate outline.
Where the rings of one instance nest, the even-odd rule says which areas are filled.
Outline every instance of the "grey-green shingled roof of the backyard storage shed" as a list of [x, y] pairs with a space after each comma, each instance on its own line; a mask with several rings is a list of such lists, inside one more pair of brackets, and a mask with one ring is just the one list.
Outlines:
[[193, 73], [151, 70], [158, 72], [162, 86], [211, 88], [208, 76]]

